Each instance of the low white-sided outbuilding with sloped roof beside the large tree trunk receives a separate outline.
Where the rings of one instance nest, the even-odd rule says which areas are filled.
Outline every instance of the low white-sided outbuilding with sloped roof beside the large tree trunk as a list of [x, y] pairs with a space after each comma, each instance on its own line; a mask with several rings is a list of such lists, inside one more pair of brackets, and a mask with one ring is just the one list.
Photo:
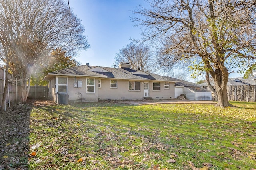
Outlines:
[[212, 100], [212, 92], [200, 85], [180, 80], [175, 83], [175, 98], [184, 94], [188, 100]]

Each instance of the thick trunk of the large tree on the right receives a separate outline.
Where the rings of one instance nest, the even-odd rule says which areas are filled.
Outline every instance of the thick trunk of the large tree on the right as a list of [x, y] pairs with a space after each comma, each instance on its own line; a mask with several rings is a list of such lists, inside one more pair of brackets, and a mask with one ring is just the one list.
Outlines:
[[216, 106], [220, 107], [235, 107], [228, 102], [227, 83], [228, 83], [228, 70], [226, 68], [218, 68], [212, 74], [215, 83], [215, 90], [218, 96], [218, 103]]

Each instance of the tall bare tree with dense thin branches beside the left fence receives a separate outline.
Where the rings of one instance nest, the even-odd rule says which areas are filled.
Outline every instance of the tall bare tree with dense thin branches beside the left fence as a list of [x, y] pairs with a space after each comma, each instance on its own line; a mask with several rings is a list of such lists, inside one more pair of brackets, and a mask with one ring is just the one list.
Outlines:
[[64, 0], [0, 0], [1, 59], [20, 80], [26, 102], [31, 74], [61, 47], [76, 53], [90, 46], [81, 21]]

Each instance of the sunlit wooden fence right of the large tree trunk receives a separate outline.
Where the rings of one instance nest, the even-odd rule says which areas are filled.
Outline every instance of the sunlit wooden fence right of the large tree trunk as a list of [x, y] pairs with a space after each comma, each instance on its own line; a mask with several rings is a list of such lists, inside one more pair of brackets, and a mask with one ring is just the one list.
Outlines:
[[228, 100], [256, 102], [256, 85], [227, 86]]

